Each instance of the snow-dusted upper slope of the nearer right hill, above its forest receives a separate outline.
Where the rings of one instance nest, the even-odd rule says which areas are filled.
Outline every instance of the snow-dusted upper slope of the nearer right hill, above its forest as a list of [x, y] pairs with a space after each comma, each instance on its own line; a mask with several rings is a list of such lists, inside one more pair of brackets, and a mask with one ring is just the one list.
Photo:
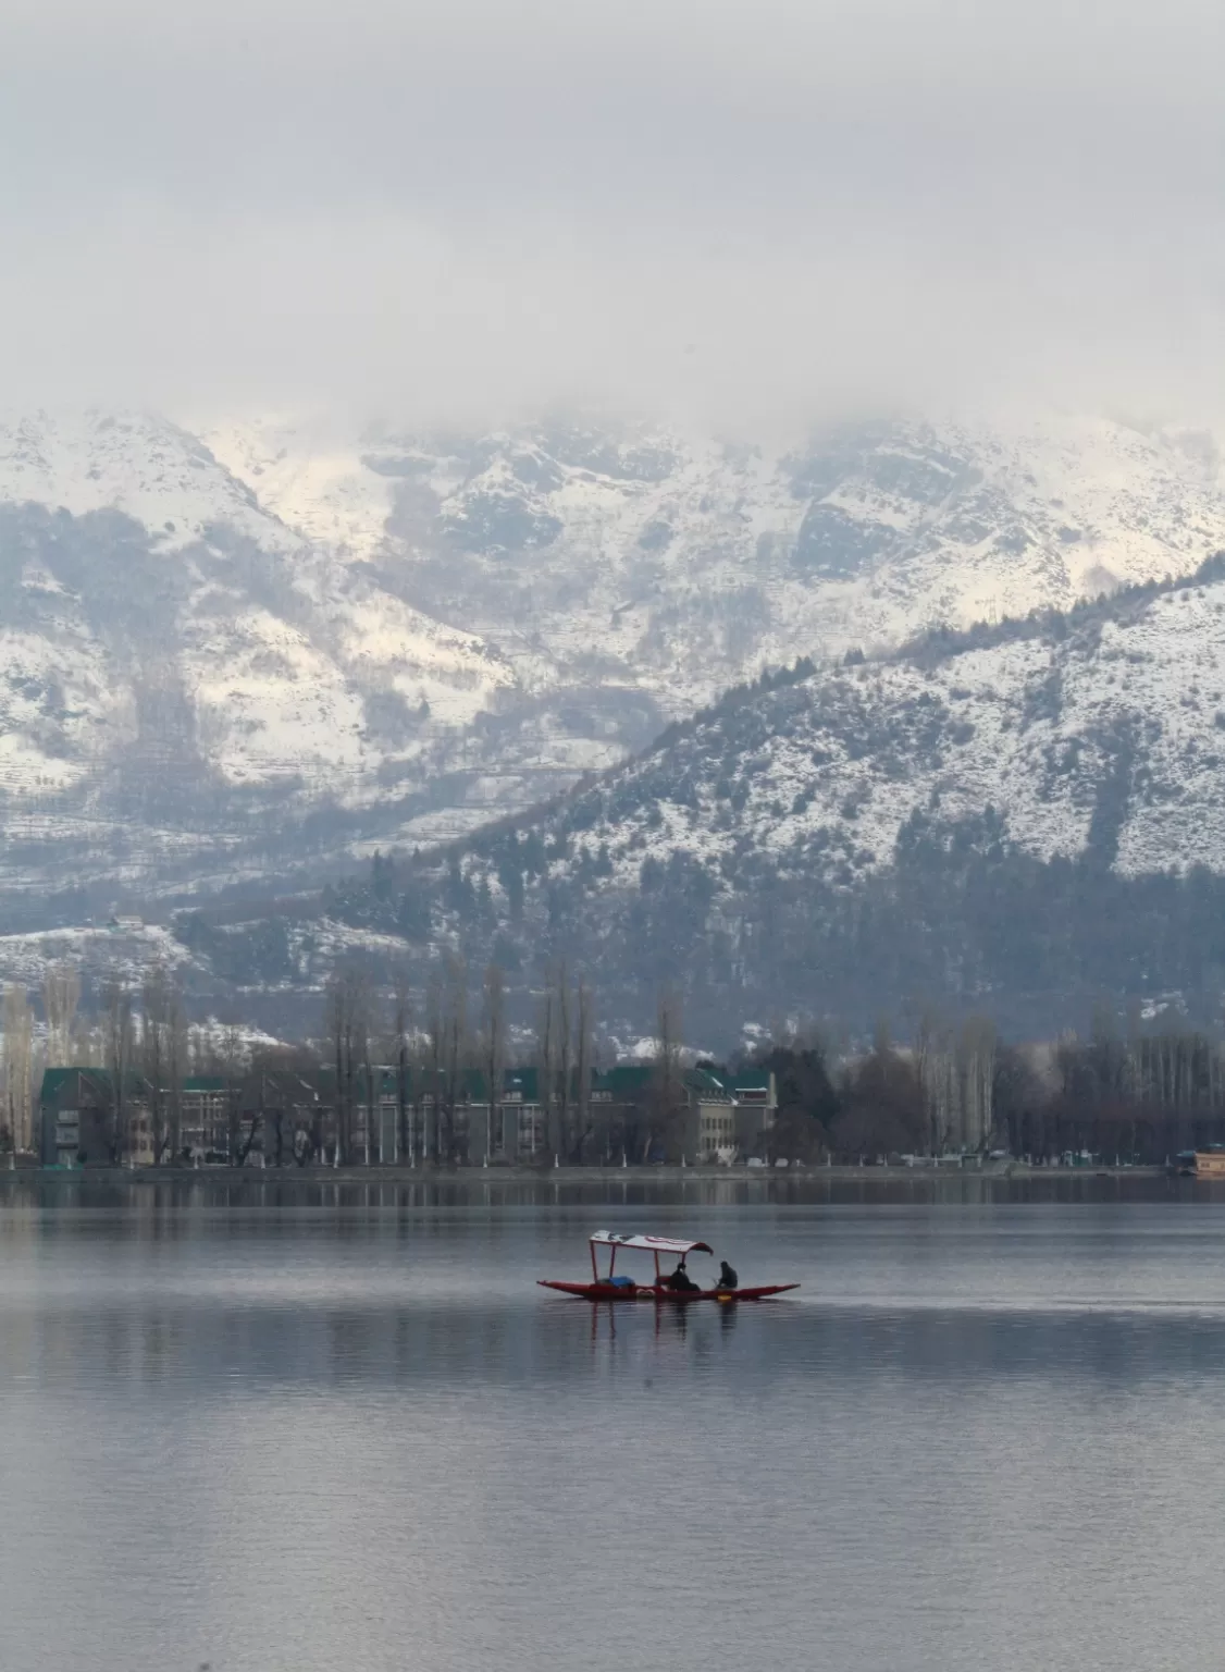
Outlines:
[[511, 848], [478, 841], [465, 874], [505, 901], [508, 853], [540, 843], [543, 910], [555, 888], [633, 896], [643, 868], [680, 858], [719, 910], [745, 878], [852, 890], [916, 818], [984, 813], [1039, 861], [1096, 848], [1123, 876], [1225, 873], [1225, 573], [1207, 573], [1071, 627], [1004, 625], [725, 701]]

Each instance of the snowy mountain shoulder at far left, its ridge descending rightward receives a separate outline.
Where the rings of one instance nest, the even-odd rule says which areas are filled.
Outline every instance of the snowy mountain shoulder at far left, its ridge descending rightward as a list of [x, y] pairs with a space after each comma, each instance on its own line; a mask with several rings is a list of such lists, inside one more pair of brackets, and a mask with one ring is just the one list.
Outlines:
[[419, 782], [515, 686], [144, 415], [0, 428], [0, 587], [12, 886], [276, 864], [269, 819]]

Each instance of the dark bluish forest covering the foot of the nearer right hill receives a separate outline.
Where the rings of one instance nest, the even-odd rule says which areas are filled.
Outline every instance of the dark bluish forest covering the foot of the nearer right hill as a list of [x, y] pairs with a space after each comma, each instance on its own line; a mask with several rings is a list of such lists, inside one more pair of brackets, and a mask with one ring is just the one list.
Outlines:
[[[495, 956], [521, 990], [541, 956], [583, 960], [598, 966], [608, 1010], [643, 1030], [662, 986], [682, 993], [707, 1038], [729, 1037], [745, 1013], [792, 1007], [867, 1032], [877, 1012], [899, 1015], [914, 995], [958, 1013], [989, 1003], [1013, 1037], [1085, 1030], [1096, 1000], [1126, 1012], [1168, 993], [1207, 1027], [1225, 1000], [1225, 876], [1203, 866], [1118, 871], [1120, 833], [1141, 793], [1138, 746], [1125, 731], [1108, 742], [1088, 846], [1075, 859], [1029, 853], [991, 808], [961, 818], [921, 809], [876, 871], [854, 868], [846, 833], [821, 828], [802, 853], [737, 848], [717, 864], [643, 849], [635, 886], [612, 886], [600, 833], [557, 824], [501, 831], [443, 859], [379, 859], [378, 874], [328, 891], [323, 910], [401, 938], [398, 956], [418, 985], [440, 945], [470, 963]], [[287, 945], [264, 945], [272, 921], [197, 950], [219, 973], [239, 978], [246, 966], [249, 978], [254, 966], [269, 981], [291, 980]]]

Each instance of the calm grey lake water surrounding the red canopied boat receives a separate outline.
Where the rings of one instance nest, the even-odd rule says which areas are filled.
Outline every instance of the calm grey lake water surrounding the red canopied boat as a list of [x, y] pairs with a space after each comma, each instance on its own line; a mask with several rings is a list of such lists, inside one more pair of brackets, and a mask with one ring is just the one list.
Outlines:
[[[1222, 1665], [1222, 1195], [80, 1189], [0, 1194], [5, 1672]], [[801, 1299], [535, 1287], [603, 1224]]]

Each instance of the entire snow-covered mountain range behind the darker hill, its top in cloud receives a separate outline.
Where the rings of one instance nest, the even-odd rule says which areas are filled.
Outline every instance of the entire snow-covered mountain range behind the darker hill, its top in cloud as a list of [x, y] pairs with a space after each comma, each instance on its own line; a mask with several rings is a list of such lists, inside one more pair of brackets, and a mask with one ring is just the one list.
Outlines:
[[1105, 420], [770, 451], [22, 415], [0, 423], [0, 896], [334, 874], [608, 769], [765, 665], [1218, 547], [1212, 440]]

